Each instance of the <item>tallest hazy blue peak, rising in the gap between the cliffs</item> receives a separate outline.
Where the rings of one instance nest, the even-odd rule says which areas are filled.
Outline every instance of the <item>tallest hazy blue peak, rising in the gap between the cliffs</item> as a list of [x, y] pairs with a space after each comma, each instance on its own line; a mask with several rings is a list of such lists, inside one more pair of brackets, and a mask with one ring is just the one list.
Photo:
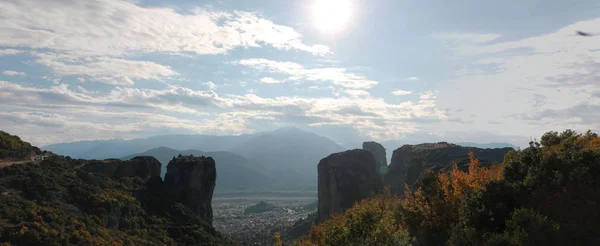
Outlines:
[[268, 169], [292, 169], [298, 182], [314, 183], [317, 164], [331, 153], [344, 148], [332, 140], [293, 127], [258, 134], [233, 147], [231, 152], [256, 160]]

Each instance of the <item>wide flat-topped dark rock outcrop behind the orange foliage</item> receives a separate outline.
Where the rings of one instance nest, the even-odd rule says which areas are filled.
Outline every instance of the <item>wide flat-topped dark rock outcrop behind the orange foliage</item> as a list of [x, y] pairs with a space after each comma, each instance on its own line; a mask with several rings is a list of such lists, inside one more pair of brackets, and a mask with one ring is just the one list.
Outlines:
[[460, 169], [469, 165], [469, 149], [482, 166], [501, 163], [504, 155], [512, 148], [481, 149], [463, 147], [446, 142], [404, 145], [392, 153], [388, 173], [384, 177], [386, 186], [399, 195], [404, 194], [404, 184], [413, 187], [426, 169], [434, 172], [448, 170], [452, 163]]

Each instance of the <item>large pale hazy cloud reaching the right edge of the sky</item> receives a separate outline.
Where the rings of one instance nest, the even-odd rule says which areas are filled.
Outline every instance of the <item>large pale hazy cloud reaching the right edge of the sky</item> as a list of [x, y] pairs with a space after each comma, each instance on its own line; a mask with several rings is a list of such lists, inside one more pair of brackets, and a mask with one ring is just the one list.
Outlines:
[[464, 109], [449, 111], [451, 118], [476, 115], [472, 130], [489, 129], [490, 121], [503, 123], [496, 131], [524, 136], [598, 127], [589, 115], [600, 105], [594, 97], [600, 92], [598, 39], [575, 33], [598, 25], [600, 19], [592, 19], [523, 39], [453, 43], [457, 55], [474, 62], [441, 84], [436, 103]]

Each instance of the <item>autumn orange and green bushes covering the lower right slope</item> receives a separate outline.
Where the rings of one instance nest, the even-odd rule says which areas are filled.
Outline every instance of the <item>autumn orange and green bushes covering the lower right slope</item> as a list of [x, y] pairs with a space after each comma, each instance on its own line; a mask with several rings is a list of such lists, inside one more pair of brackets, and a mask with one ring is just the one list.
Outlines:
[[504, 162], [426, 172], [313, 226], [296, 245], [598, 245], [600, 138], [548, 132]]

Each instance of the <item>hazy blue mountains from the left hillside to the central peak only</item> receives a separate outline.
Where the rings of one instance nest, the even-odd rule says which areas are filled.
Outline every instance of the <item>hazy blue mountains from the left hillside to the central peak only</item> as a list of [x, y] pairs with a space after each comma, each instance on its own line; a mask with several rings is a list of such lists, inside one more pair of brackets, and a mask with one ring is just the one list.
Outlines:
[[[204, 151], [202, 153], [215, 158], [217, 165], [222, 162], [219, 161], [219, 157], [227, 156], [223, 153], [219, 154], [222, 156], [216, 156], [217, 152], [238, 154], [245, 159], [234, 158], [226, 161], [223, 165], [232, 165], [236, 168], [240, 165], [257, 166], [258, 168], [255, 170], [262, 173], [263, 177], [270, 177], [268, 180], [275, 185], [314, 185], [317, 180], [317, 163], [331, 153], [346, 149], [328, 138], [293, 127], [237, 136], [162, 135], [132, 140], [81, 141], [47, 145], [44, 146], [44, 149], [73, 158], [107, 159], [131, 157], [134, 153], [147, 155], [143, 152], [163, 146], [168, 146], [172, 150], [202, 150]], [[166, 153], [167, 155], [172, 154]], [[196, 154], [198, 153], [200, 152]], [[193, 154], [193, 152], [186, 152], [186, 154]], [[168, 160], [165, 162], [163, 155], [151, 156], [159, 159], [163, 167], [168, 162]], [[225, 158], [225, 160], [229, 159]], [[236, 166], [234, 163], [251, 164]], [[264, 165], [265, 169], [257, 163]], [[222, 171], [225, 172], [225, 170]], [[219, 170], [218, 180], [225, 177], [221, 176], [224, 175], [223, 172]], [[242, 172], [240, 171], [240, 173]], [[258, 186], [262, 186], [263, 183], [265, 182], [257, 180]], [[217, 184], [217, 189], [220, 189], [219, 184]]]

